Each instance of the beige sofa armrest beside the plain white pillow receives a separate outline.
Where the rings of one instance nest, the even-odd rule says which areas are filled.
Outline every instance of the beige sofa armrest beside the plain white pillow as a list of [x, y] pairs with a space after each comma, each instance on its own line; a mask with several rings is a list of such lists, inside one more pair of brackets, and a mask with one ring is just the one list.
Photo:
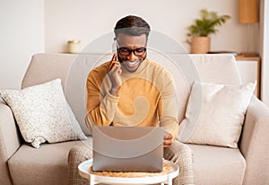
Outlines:
[[266, 184], [269, 181], [269, 108], [255, 96], [247, 108], [240, 151], [247, 162], [245, 184]]

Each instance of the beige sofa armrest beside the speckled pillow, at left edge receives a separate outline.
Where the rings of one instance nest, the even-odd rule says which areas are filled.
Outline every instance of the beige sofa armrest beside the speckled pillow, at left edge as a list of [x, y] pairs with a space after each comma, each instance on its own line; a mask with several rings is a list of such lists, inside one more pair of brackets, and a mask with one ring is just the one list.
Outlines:
[[0, 97], [0, 184], [12, 184], [7, 161], [20, 145], [13, 112]]

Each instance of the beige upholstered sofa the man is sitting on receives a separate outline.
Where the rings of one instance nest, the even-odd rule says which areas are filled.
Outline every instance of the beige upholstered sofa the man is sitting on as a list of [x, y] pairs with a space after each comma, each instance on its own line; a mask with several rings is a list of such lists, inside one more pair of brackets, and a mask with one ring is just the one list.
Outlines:
[[[158, 55], [150, 58], [163, 61]], [[22, 88], [61, 78], [66, 100], [69, 101], [82, 130], [89, 134], [83, 123], [82, 108], [85, 75], [96, 61], [110, 56], [68, 54], [37, 54], [22, 80]], [[176, 56], [183, 62], [187, 75], [198, 76], [202, 82], [241, 84], [234, 57], [230, 55], [191, 55], [194, 66], [186, 56]], [[80, 61], [80, 62], [78, 62]], [[161, 63], [168, 66], [167, 61]], [[190, 66], [189, 66], [190, 65]], [[168, 66], [169, 68], [170, 66]], [[171, 67], [173, 68], [173, 67]], [[220, 70], [221, 69], [221, 70]], [[196, 70], [195, 72], [193, 70]], [[173, 74], [180, 103], [179, 121], [184, 118], [190, 85], [182, 76]], [[82, 80], [84, 78], [84, 80]], [[191, 77], [189, 77], [191, 78]], [[82, 94], [82, 95], [81, 95]], [[212, 145], [189, 145], [194, 152], [195, 184], [269, 184], [269, 109], [252, 97], [239, 140], [239, 148]], [[39, 149], [24, 144], [16, 127], [12, 110], [0, 101], [0, 184], [66, 184], [69, 149], [82, 141], [43, 144]]]

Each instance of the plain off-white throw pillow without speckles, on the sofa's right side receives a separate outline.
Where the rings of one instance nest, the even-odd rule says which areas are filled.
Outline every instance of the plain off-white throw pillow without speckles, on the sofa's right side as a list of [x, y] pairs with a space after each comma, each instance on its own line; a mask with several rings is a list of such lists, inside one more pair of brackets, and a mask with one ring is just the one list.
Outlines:
[[178, 139], [184, 143], [238, 147], [256, 82], [243, 86], [195, 82]]

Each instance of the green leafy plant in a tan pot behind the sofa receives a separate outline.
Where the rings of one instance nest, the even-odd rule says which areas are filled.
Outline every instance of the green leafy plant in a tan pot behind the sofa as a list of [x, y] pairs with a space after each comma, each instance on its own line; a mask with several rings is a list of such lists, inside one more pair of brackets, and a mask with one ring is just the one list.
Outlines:
[[190, 40], [191, 53], [207, 53], [210, 50], [210, 34], [217, 32], [217, 27], [230, 19], [230, 15], [218, 15], [215, 12], [208, 12], [206, 9], [200, 11], [201, 18], [187, 27], [187, 36]]

